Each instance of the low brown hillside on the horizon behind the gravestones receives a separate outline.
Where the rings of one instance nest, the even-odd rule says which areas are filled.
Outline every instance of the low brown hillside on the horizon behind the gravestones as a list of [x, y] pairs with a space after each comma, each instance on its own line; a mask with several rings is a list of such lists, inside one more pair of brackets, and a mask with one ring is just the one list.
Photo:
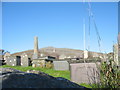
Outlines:
[[[33, 50], [27, 50], [22, 52], [13, 53], [12, 55], [21, 56], [22, 53], [28, 54], [29, 57], [32, 57]], [[71, 58], [83, 58], [83, 51], [77, 49], [68, 49], [68, 48], [55, 48], [55, 47], [45, 47], [39, 49], [39, 56], [54, 56], [59, 57], [71, 57]], [[98, 52], [89, 52], [89, 57], [99, 57], [103, 56], [102, 53]]]

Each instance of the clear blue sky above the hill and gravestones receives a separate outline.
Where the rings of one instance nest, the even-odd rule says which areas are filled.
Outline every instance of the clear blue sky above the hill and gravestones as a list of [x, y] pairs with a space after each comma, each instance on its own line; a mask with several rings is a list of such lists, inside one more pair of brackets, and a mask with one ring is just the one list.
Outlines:
[[[92, 2], [92, 12], [102, 39], [102, 52], [112, 52], [117, 42], [117, 2]], [[10, 53], [34, 48], [38, 36], [39, 48], [84, 49], [83, 19], [86, 25], [86, 49], [99, 52], [93, 20], [90, 23], [88, 3], [83, 2], [3, 2], [2, 48]]]

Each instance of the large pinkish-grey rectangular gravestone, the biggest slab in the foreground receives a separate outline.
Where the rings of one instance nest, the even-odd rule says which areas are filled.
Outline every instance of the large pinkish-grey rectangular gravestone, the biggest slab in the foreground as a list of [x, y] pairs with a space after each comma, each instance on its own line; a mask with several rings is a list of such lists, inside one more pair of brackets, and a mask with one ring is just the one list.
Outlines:
[[99, 82], [99, 71], [95, 63], [70, 64], [71, 80], [76, 83], [93, 84]]

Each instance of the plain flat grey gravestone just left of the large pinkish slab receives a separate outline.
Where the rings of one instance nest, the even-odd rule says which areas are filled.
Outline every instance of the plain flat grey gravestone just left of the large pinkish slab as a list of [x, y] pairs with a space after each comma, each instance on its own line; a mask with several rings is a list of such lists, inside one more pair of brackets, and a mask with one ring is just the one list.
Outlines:
[[54, 70], [69, 70], [68, 61], [53, 61]]

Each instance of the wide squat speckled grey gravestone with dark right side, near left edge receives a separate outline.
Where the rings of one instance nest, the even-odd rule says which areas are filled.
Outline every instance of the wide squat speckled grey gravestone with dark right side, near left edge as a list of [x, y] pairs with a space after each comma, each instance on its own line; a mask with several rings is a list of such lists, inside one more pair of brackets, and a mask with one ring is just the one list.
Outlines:
[[20, 56], [7, 56], [6, 64], [10, 66], [20, 66], [21, 65], [21, 57]]

